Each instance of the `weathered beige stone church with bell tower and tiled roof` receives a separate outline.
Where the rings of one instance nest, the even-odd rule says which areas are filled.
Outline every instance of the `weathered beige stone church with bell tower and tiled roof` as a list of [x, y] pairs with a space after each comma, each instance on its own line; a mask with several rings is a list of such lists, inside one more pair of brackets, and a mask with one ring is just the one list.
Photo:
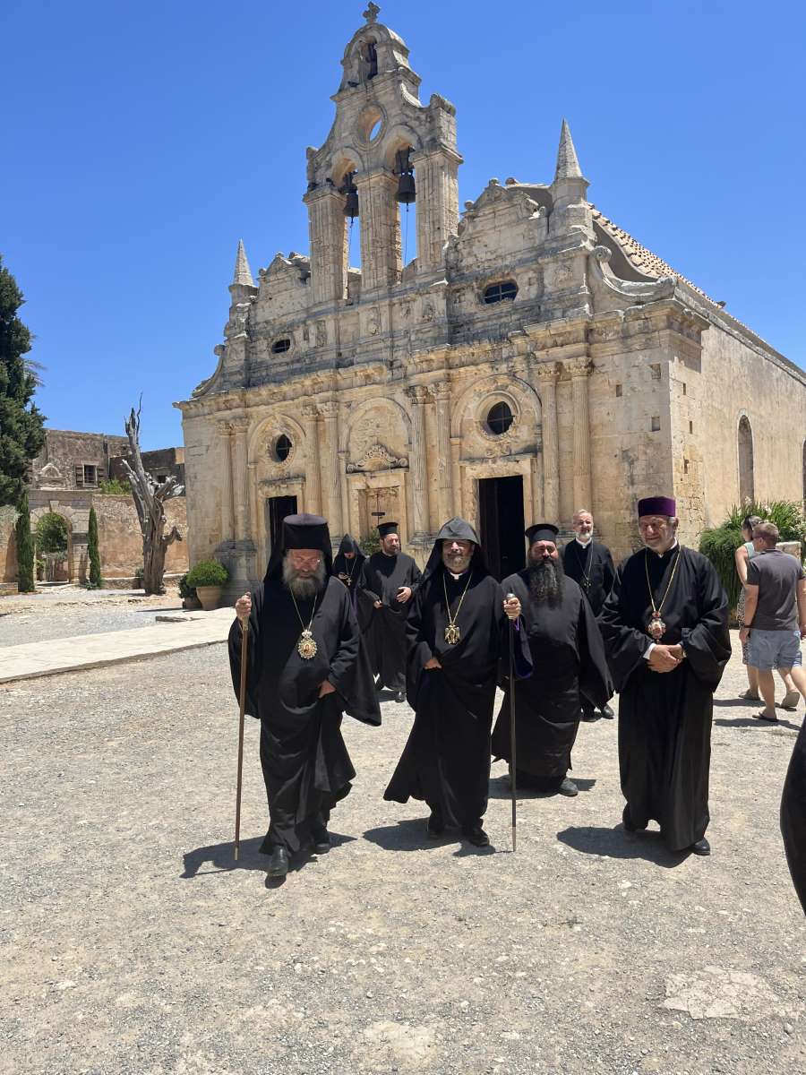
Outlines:
[[256, 283], [239, 245], [218, 364], [176, 404], [191, 563], [261, 577], [294, 510], [334, 542], [397, 519], [420, 562], [461, 515], [505, 571], [523, 524], [576, 507], [624, 554], [648, 493], [688, 542], [748, 496], [802, 498], [804, 373], [587, 200], [564, 121], [552, 182], [490, 180], [460, 215], [456, 110], [419, 100], [377, 13], [307, 149], [310, 255]]

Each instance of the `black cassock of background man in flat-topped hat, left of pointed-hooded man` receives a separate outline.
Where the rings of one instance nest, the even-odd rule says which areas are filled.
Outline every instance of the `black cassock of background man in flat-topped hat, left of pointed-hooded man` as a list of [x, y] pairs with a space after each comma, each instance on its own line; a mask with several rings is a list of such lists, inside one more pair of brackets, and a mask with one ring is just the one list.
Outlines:
[[[372, 670], [380, 684], [395, 692], [406, 689], [406, 616], [420, 578], [420, 569], [405, 553], [373, 553], [364, 563], [358, 616]], [[413, 591], [405, 604], [394, 600], [401, 586]], [[375, 608], [375, 601], [382, 602], [380, 608]]]

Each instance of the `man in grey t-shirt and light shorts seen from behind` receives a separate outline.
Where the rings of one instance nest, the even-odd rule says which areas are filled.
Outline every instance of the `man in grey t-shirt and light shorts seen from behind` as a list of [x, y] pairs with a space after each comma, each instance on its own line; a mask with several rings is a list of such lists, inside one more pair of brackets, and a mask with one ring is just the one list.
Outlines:
[[794, 685], [806, 698], [806, 673], [801, 666], [801, 639], [806, 637], [806, 574], [798, 559], [775, 547], [775, 524], [754, 527], [757, 540], [762, 548], [747, 563], [745, 626], [739, 639], [748, 643], [748, 663], [759, 670], [764, 708], [755, 716], [775, 721], [776, 664], [781, 675], [791, 670]]

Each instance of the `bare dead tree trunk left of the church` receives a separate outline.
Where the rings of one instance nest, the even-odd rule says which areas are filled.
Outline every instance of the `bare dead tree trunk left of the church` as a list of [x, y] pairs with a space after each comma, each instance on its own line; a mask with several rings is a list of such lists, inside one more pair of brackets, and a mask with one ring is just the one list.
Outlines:
[[131, 485], [131, 494], [140, 519], [140, 531], [143, 534], [143, 589], [146, 593], [164, 593], [162, 576], [165, 571], [165, 553], [168, 546], [175, 541], [182, 541], [182, 534], [176, 527], [165, 533], [164, 502], [172, 497], [179, 497], [185, 486], [179, 485], [171, 475], [158, 485], [143, 467], [140, 455], [140, 412], [143, 397], [140, 397], [136, 414], [134, 407], [126, 420], [126, 435], [129, 439], [129, 459], [121, 459], [124, 470]]

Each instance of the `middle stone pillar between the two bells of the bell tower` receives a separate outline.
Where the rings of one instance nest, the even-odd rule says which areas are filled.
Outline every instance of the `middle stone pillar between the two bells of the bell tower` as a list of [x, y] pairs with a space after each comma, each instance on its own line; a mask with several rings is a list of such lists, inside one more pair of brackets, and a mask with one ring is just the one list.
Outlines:
[[361, 295], [392, 287], [400, 280], [397, 177], [386, 168], [356, 176], [361, 224]]

